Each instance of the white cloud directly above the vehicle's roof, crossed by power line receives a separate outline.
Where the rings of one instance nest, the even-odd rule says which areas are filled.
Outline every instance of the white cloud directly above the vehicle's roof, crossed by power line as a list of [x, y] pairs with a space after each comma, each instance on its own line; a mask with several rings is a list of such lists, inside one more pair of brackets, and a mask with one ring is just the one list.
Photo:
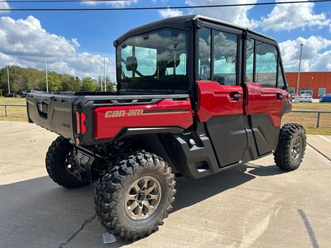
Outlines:
[[[239, 3], [257, 3], [257, 0], [186, 0], [189, 6], [199, 6], [201, 3], [203, 5], [217, 5], [217, 4], [239, 4]], [[225, 8], [194, 8], [190, 10], [192, 13], [203, 14], [207, 17], [213, 17], [220, 19], [222, 21], [228, 21], [230, 23], [235, 23], [249, 28], [255, 28], [259, 24], [256, 20], [250, 19], [248, 17], [248, 12], [254, 6], [237, 6], [237, 7], [225, 7]]]

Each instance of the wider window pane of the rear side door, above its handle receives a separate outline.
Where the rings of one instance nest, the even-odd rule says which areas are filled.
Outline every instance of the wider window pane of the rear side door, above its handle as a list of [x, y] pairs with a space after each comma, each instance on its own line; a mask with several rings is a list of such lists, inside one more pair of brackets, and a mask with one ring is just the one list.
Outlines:
[[237, 34], [214, 31], [214, 74], [212, 80], [221, 85], [237, 83]]

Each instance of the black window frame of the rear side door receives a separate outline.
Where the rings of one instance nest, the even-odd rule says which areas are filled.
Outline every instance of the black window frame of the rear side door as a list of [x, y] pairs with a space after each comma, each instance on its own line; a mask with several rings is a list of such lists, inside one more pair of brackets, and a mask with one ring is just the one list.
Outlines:
[[[203, 22], [203, 28], [208, 28], [210, 29], [210, 81], [213, 81], [213, 76], [214, 76], [214, 30], [219, 31], [219, 32], [228, 32], [230, 34], [236, 34], [237, 35], [237, 64], [236, 64], [236, 83], [234, 85], [241, 85], [241, 75], [242, 75], [242, 70], [240, 70], [239, 66], [241, 66], [241, 61], [243, 58], [242, 54], [242, 35], [243, 31], [236, 29], [236, 28], [229, 28], [225, 25], [217, 25], [214, 23], [209, 23], [209, 22]], [[197, 28], [197, 33], [195, 35], [196, 37], [196, 61], [195, 61], [195, 78], [199, 80], [199, 30], [201, 28]], [[234, 86], [234, 85], [223, 85], [223, 86]]]

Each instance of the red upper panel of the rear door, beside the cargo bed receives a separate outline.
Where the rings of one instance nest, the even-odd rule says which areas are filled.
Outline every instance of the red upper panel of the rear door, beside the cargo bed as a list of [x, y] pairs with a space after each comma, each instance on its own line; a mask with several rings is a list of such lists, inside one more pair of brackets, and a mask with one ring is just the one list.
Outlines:
[[[240, 85], [220, 85], [214, 81], [197, 81], [199, 121], [208, 121], [212, 116], [243, 114], [243, 88]], [[241, 98], [234, 99], [234, 94]]]

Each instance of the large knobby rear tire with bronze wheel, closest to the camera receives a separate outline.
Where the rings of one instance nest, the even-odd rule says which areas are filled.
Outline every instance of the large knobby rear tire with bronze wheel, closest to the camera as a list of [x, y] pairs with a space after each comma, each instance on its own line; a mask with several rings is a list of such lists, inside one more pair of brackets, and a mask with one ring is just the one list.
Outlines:
[[[110, 164], [95, 189], [94, 208], [108, 232], [126, 240], [137, 240], [163, 225], [163, 218], [167, 218], [172, 209], [175, 184], [174, 174], [162, 158], [148, 152], [136, 152]], [[143, 205], [146, 203], [139, 203], [143, 199], [148, 200], [148, 205], [154, 205], [150, 214]]]

